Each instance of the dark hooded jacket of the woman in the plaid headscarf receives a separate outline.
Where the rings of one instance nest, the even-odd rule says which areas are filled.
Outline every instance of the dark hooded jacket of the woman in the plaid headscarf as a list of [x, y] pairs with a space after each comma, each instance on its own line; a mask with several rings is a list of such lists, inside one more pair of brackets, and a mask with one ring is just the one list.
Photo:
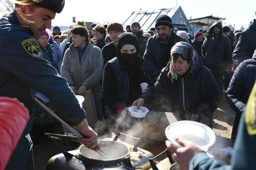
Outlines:
[[[192, 113], [198, 114], [199, 122], [212, 128], [213, 112], [217, 109], [221, 91], [211, 71], [203, 66], [198, 54], [195, 57], [184, 76], [177, 80], [167, 77], [170, 71], [170, 62], [163, 68], [150, 92], [143, 94], [145, 103], [157, 99], [161, 106], [167, 106], [165, 110], [179, 112], [179, 120], [188, 120]], [[166, 102], [166, 103], [165, 103]]]

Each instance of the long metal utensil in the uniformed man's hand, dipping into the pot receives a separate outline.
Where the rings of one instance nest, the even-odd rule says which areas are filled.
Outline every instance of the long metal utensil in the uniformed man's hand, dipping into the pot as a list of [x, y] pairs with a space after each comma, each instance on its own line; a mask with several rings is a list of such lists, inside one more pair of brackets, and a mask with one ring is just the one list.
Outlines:
[[[73, 126], [69, 125], [67, 122], [65, 122], [53, 109], [51, 109], [50, 106], [47, 105], [48, 102], [50, 102], [50, 99], [44, 95], [41, 92], [36, 92], [34, 96], [32, 96], [33, 100], [39, 104], [46, 112], [48, 112], [50, 115], [52, 115], [55, 119], [57, 119], [62, 125], [64, 125], [66, 128], [68, 128], [72, 133], [74, 133], [79, 138], [87, 138], [84, 137], [79, 131], [77, 131]], [[109, 155], [104, 152], [103, 150], [99, 149], [97, 151], [101, 156], [104, 158], [109, 159]]]

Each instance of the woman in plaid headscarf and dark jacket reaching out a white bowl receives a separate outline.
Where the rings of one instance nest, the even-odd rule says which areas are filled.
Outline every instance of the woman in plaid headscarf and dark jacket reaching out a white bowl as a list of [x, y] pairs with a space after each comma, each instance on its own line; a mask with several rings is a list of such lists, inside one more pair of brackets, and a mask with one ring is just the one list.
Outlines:
[[221, 94], [211, 71], [203, 66], [193, 47], [186, 42], [177, 42], [155, 87], [135, 100], [132, 106], [139, 108], [157, 99], [164, 110], [179, 112], [179, 120], [197, 121], [212, 128], [213, 112]]

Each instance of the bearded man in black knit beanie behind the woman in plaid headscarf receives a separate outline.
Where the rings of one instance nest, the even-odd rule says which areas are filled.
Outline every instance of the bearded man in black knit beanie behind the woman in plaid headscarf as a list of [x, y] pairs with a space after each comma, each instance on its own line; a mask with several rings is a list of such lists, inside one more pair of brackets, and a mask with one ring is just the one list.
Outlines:
[[167, 15], [160, 15], [155, 21], [157, 35], [149, 38], [143, 58], [152, 83], [155, 83], [161, 70], [166, 67], [171, 55], [170, 51], [176, 42], [187, 42], [177, 36], [173, 30], [172, 19]]

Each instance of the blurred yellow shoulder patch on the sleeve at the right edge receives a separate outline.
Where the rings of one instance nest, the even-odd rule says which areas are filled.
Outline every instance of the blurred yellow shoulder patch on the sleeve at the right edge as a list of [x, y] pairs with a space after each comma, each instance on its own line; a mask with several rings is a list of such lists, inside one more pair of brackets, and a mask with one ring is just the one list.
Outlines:
[[256, 135], [256, 83], [254, 84], [245, 113], [245, 124], [249, 135]]

